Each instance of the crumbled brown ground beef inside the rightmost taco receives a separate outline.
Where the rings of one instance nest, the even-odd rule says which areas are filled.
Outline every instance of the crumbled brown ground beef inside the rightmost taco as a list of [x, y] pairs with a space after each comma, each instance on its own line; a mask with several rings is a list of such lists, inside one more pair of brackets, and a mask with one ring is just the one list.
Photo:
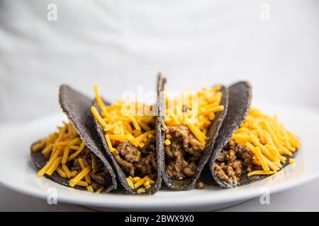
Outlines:
[[249, 148], [230, 140], [216, 157], [217, 177], [229, 184], [238, 183], [242, 173], [247, 172], [247, 169], [257, 169], [252, 165], [252, 156], [252, 151]]

